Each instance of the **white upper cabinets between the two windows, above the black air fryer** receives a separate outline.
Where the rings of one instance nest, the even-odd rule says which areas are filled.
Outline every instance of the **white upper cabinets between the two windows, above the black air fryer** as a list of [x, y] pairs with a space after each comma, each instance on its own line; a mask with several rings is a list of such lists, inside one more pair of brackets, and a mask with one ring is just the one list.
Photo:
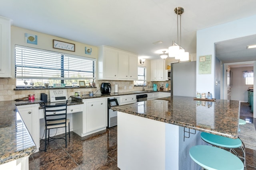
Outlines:
[[98, 80], [137, 80], [138, 55], [107, 46], [99, 47]]

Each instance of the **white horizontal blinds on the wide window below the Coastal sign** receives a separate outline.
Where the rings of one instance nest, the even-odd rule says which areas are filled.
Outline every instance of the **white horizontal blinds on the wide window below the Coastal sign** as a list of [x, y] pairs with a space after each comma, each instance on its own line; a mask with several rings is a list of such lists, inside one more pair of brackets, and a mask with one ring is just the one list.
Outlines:
[[15, 76], [29, 79], [95, 79], [96, 59], [15, 46]]

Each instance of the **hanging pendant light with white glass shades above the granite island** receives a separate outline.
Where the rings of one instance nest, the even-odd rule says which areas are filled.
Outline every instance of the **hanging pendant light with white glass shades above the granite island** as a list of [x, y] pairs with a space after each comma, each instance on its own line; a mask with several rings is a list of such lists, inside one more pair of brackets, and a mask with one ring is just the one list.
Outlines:
[[[177, 43], [172, 41], [172, 46], [169, 47], [169, 57], [175, 57], [175, 59], [180, 59], [180, 61], [188, 61], [189, 53], [185, 52], [184, 48], [181, 47], [181, 14], [184, 13], [184, 8], [177, 7], [174, 9], [174, 12], [177, 14]], [[180, 16], [180, 37], [179, 37], [179, 18]], [[180, 41], [179, 41], [180, 40]]]

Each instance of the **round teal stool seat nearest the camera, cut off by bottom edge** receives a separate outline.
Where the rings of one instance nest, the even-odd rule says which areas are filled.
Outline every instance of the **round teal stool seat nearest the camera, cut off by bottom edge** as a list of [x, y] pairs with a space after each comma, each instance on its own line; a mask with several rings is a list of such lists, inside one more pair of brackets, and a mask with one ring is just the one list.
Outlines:
[[244, 164], [238, 157], [218, 147], [197, 145], [190, 148], [189, 155], [207, 170], [244, 170]]

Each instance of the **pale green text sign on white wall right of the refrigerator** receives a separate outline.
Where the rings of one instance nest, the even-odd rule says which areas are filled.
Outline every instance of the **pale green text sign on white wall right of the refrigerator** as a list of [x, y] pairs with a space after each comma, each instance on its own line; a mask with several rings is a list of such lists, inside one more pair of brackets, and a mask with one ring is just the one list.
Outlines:
[[199, 56], [198, 74], [211, 74], [212, 71], [212, 55]]

